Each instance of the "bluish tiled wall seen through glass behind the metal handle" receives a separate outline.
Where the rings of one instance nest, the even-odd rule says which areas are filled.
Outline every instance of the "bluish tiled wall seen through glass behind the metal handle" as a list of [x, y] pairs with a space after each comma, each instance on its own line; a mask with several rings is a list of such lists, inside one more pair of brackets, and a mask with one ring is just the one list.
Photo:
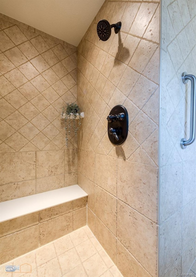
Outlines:
[[196, 143], [189, 138], [190, 81], [196, 75], [195, 1], [162, 1], [160, 105], [160, 276], [188, 273], [195, 252]]

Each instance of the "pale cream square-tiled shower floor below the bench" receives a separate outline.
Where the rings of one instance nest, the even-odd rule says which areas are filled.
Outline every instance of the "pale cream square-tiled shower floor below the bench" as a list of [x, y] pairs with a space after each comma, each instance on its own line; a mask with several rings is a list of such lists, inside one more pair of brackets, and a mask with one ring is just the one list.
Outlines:
[[[20, 266], [22, 272], [6, 272], [7, 265]], [[123, 277], [88, 226], [2, 264], [0, 276]]]

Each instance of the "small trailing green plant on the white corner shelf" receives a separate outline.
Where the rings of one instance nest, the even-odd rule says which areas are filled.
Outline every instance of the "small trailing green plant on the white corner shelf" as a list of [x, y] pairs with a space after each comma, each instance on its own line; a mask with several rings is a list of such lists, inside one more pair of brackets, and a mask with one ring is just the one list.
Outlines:
[[[61, 115], [65, 116], [65, 135], [66, 135], [66, 147], [68, 146], [68, 135], [71, 133], [71, 127], [74, 129], [74, 135], [77, 136], [77, 131], [81, 125], [81, 116], [80, 116], [80, 108], [77, 104], [74, 103], [66, 103], [66, 106], [62, 107]], [[76, 122], [76, 117], [79, 115], [78, 124]], [[73, 122], [73, 124], [72, 124]], [[73, 126], [72, 126], [73, 125]]]

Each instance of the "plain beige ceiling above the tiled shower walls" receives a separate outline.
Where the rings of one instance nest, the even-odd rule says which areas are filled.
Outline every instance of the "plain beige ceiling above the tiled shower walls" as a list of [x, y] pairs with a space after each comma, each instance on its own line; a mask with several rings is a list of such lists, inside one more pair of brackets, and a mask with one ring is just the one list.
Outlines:
[[104, 0], [0, 0], [0, 13], [77, 46]]

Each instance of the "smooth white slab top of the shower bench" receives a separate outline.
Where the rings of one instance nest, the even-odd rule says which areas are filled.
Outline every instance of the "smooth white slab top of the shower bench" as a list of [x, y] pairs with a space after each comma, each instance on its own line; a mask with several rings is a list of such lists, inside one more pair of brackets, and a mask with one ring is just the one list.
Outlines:
[[0, 203], [0, 222], [88, 196], [78, 185], [58, 188]]

